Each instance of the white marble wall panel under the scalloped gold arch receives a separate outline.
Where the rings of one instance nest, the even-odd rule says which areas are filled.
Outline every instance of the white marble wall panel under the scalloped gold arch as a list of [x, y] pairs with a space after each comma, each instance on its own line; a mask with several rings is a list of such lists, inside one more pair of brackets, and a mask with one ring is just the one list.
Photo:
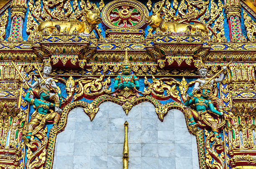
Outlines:
[[148, 102], [134, 106], [128, 116], [121, 106], [102, 103], [93, 121], [74, 108], [57, 136], [53, 169], [122, 169], [125, 121], [129, 169], [199, 169], [196, 139], [182, 112], [171, 110], [161, 122]]

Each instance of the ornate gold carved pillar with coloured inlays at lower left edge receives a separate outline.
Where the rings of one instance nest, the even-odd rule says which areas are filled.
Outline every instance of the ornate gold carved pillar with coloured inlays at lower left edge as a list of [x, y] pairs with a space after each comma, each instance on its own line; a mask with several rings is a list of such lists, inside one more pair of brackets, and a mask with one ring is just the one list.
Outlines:
[[[17, 102], [16, 102], [17, 103]], [[24, 144], [22, 131], [26, 123], [26, 112], [15, 108], [15, 102], [1, 101], [0, 107], [0, 163], [13, 169], [20, 168]], [[6, 169], [9, 169], [8, 167]]]

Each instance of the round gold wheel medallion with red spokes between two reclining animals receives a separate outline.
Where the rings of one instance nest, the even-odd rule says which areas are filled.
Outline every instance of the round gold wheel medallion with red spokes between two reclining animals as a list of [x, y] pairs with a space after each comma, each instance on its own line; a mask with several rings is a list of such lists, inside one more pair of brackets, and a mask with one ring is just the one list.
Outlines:
[[115, 0], [102, 9], [102, 21], [110, 29], [138, 29], [146, 26], [146, 7], [136, 0]]

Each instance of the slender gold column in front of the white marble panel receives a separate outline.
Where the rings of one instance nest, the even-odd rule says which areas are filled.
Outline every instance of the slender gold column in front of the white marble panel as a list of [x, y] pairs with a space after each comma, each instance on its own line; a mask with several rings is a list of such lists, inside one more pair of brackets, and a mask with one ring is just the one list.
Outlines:
[[128, 169], [128, 160], [129, 160], [129, 149], [128, 149], [128, 122], [125, 121], [123, 124], [125, 128], [125, 139], [123, 142], [123, 169]]

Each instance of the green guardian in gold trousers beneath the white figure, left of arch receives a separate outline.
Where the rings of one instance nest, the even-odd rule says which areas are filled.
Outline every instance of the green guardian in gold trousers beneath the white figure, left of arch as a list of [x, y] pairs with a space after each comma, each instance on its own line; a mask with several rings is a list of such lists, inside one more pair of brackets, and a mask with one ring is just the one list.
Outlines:
[[[28, 131], [25, 131], [24, 134], [27, 135], [27, 139], [31, 139], [31, 136], [35, 135], [38, 131], [43, 129], [46, 121], [54, 119], [54, 125], [57, 124], [61, 109], [59, 108], [57, 111], [53, 111], [50, 107], [55, 107], [55, 103], [51, 103], [47, 101], [50, 98], [50, 92], [46, 88], [41, 88], [38, 91], [38, 98], [30, 98], [30, 92], [32, 88], [28, 88], [28, 92], [25, 96], [25, 101], [34, 105], [36, 107], [36, 111], [33, 112], [31, 119], [28, 123]], [[61, 106], [61, 100], [59, 100], [59, 106]]]

